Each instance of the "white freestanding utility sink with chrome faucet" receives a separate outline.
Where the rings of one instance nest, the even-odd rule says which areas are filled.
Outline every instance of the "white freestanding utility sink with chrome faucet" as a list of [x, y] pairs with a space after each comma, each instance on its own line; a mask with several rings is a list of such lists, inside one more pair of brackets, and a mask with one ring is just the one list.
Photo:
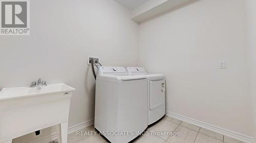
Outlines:
[[67, 143], [69, 108], [74, 88], [65, 83], [0, 91], [0, 143], [57, 125], [58, 141]]

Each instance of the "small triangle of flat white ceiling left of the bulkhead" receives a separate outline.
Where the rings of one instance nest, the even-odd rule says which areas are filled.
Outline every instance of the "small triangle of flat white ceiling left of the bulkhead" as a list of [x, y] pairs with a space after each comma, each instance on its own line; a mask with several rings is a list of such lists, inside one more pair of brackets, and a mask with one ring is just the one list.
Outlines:
[[149, 0], [115, 0], [115, 1], [118, 4], [122, 5], [123, 7], [133, 10]]

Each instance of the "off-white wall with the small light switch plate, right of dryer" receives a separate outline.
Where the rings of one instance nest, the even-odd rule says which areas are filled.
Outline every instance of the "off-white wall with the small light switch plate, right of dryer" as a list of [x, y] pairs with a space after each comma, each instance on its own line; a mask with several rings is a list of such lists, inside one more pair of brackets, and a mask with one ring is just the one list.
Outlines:
[[253, 136], [244, 5], [202, 0], [140, 24], [139, 61], [166, 75], [167, 111]]

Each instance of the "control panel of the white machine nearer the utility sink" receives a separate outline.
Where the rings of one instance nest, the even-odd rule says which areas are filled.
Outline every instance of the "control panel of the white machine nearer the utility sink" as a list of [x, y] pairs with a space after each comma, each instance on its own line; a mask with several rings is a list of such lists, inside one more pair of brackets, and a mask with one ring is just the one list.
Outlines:
[[127, 75], [124, 67], [100, 67], [98, 74], [100, 75]]

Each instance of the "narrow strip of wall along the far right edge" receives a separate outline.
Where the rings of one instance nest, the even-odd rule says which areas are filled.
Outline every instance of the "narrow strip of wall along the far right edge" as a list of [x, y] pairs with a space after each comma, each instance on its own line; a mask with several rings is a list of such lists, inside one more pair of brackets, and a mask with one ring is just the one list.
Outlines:
[[247, 46], [250, 71], [250, 88], [254, 109], [254, 140], [256, 139], [256, 1], [246, 0]]

